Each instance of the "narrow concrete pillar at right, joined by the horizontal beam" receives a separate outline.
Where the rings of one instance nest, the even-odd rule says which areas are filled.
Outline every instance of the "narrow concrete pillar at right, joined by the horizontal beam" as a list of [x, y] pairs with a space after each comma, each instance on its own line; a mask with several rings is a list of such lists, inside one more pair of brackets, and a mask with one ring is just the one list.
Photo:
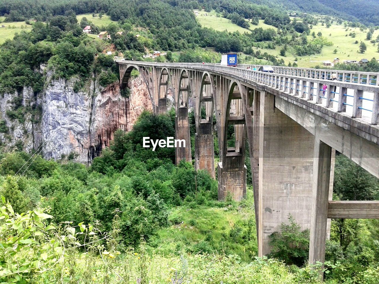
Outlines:
[[312, 218], [309, 242], [309, 263], [325, 261], [327, 214], [332, 148], [317, 137], [314, 144]]

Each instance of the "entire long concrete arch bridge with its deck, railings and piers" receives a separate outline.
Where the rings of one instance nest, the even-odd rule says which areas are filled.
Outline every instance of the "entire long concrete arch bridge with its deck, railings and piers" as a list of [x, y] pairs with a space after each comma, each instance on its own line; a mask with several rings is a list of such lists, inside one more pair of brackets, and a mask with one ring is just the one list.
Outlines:
[[[310, 229], [310, 263], [324, 262], [328, 218], [379, 218], [377, 201], [331, 201], [335, 150], [379, 178], [378, 74], [338, 72], [345, 74], [344, 81], [330, 81], [323, 79], [330, 70], [322, 75], [316, 69], [274, 67], [277, 73], [265, 73], [241, 65], [116, 62], [122, 88], [131, 71], [139, 70], [155, 113], [167, 111], [172, 90], [175, 136], [186, 140], [186, 148], [175, 150], [176, 162], [191, 161], [188, 107], [193, 101], [195, 169], [213, 177], [216, 116], [219, 200], [246, 195], [248, 146], [260, 256], [270, 252], [269, 235], [289, 214], [302, 229]], [[348, 73], [359, 80], [346, 82]], [[230, 125], [234, 135], [228, 133]]]

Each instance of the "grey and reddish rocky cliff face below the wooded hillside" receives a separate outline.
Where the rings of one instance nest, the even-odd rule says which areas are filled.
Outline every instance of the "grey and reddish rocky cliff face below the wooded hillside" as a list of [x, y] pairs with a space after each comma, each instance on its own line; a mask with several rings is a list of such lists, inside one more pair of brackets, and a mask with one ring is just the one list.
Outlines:
[[[25, 87], [20, 94], [0, 97], [0, 122], [8, 126], [7, 133], [0, 133], [0, 142], [23, 144], [24, 150], [34, 148], [47, 159], [70, 156], [89, 163], [110, 145], [114, 131], [130, 131], [144, 109], [152, 110], [141, 76], [130, 79], [129, 98], [121, 96], [118, 83], [103, 88], [91, 80], [78, 92], [74, 91], [74, 83], [74, 79], [50, 80], [40, 94]], [[7, 115], [7, 110], [14, 108], [15, 97], [22, 97], [18, 109], [23, 113], [21, 119]]]

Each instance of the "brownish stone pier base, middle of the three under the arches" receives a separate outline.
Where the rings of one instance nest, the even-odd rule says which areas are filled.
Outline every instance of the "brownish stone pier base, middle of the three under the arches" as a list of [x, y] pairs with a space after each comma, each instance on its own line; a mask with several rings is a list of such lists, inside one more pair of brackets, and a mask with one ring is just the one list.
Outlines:
[[215, 146], [211, 122], [199, 123], [199, 133], [195, 134], [195, 170], [207, 170], [215, 178]]

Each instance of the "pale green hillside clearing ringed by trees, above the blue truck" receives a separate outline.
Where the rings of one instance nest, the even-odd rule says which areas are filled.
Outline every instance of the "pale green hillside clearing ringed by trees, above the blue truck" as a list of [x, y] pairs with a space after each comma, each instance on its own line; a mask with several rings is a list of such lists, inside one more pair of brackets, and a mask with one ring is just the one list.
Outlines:
[[[251, 33], [251, 31], [232, 23], [231, 20], [228, 20], [221, 16], [217, 17], [215, 11], [211, 11], [211, 12], [205, 12], [201, 10], [194, 10], [194, 11], [199, 12], [199, 15], [196, 17], [196, 19], [199, 21], [202, 27], [213, 28], [216, 31], [227, 30], [232, 33], [234, 31], [239, 31], [240, 33], [245, 33], [245, 32]], [[207, 14], [208, 16], [205, 16], [205, 14]], [[253, 25], [251, 22], [249, 22], [249, 24], [250, 24], [250, 29], [252, 30], [254, 30], [255, 28], [264, 28], [264, 29], [274, 28], [276, 30], [275, 27], [266, 25], [265, 23], [263, 23], [263, 20], [259, 20], [259, 25]]]

